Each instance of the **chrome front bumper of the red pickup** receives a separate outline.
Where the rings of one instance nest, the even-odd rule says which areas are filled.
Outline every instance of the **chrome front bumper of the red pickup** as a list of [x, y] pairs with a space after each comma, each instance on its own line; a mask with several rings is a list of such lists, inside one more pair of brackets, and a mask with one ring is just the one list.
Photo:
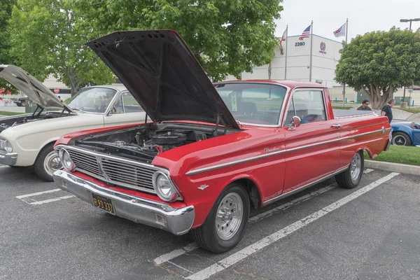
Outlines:
[[193, 206], [174, 208], [161, 202], [126, 195], [62, 170], [54, 172], [53, 177], [59, 188], [92, 205], [94, 205], [92, 193], [110, 199], [116, 216], [126, 218], [134, 223], [151, 225], [172, 232], [174, 235], [183, 235], [193, 226], [195, 218]]

